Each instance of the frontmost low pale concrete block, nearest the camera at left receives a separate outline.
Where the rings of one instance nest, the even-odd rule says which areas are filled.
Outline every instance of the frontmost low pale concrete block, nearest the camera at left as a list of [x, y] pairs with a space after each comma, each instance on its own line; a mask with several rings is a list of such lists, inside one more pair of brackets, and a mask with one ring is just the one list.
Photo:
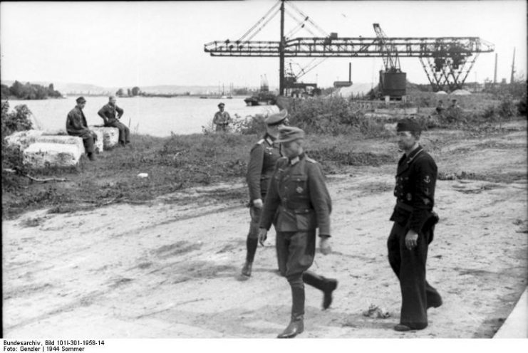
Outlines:
[[33, 143], [24, 149], [24, 164], [38, 169], [44, 167], [73, 167], [81, 159], [83, 149], [77, 144]]

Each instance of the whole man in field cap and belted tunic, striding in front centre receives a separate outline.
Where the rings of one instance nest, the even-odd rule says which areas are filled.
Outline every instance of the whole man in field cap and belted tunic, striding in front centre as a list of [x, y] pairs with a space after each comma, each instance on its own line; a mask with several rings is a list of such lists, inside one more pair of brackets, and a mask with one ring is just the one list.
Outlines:
[[286, 268], [292, 297], [291, 321], [278, 337], [291, 338], [304, 331], [304, 283], [323, 291], [323, 310], [331, 305], [332, 292], [337, 287], [337, 280], [308, 271], [314, 262], [316, 228], [321, 253], [331, 252], [328, 238], [332, 205], [321, 166], [304, 153], [304, 131], [281, 127], [276, 142], [282, 144], [286, 157], [277, 161], [269, 183], [259, 224], [259, 242], [264, 245], [266, 233], [277, 217], [276, 250], [279, 263]]

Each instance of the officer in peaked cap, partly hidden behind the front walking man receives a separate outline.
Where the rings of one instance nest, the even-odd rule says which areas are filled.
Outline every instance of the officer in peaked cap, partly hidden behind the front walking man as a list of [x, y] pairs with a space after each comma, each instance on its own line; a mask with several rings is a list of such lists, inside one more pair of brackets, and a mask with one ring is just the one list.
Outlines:
[[[259, 242], [259, 221], [266, 199], [269, 180], [275, 168], [277, 159], [282, 157], [281, 145], [274, 143], [279, 136], [279, 127], [284, 126], [288, 112], [280, 112], [270, 115], [266, 118], [266, 135], [257, 142], [251, 149], [249, 155], [249, 164], [247, 166], [247, 186], [249, 187], [249, 214], [251, 223], [246, 241], [246, 263], [242, 268], [242, 275], [249, 277], [252, 271], [252, 264], [257, 251]], [[285, 268], [280, 268], [282, 275], [286, 272]]]

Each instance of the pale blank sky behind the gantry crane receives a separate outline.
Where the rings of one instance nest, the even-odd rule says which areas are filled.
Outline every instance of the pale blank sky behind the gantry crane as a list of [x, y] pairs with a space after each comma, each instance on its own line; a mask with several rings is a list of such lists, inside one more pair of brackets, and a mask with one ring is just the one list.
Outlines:
[[[278, 86], [278, 58], [212, 57], [211, 41], [237, 40], [276, 0], [0, 2], [2, 80], [151, 85]], [[509, 81], [514, 47], [517, 74], [527, 73], [527, 3], [513, 1], [294, 1], [327, 33], [373, 37], [477, 36], [495, 44], [497, 79]], [[288, 6], [286, 5], [286, 9]], [[291, 11], [291, 10], [290, 10]], [[286, 16], [285, 33], [296, 26]], [[305, 30], [297, 36], [311, 36]], [[279, 16], [253, 38], [279, 40]], [[468, 81], [493, 78], [495, 53], [481, 53]], [[286, 58], [286, 65], [290, 59]], [[294, 70], [311, 62], [292, 61]], [[329, 87], [335, 80], [378, 80], [381, 58], [328, 58], [301, 80]], [[415, 83], [428, 83], [418, 58], [402, 58]], [[300, 66], [299, 66], [300, 65]]]

